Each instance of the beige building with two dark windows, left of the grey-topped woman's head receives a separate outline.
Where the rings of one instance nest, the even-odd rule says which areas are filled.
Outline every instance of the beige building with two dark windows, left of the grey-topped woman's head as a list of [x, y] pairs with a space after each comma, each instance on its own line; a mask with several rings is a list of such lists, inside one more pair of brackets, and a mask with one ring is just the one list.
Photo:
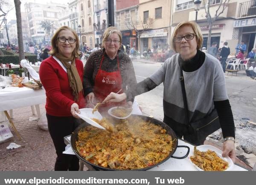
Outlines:
[[172, 0], [140, 0], [140, 29], [145, 31], [140, 36], [141, 51], [152, 49], [153, 46], [169, 47], [170, 26], [172, 21]]

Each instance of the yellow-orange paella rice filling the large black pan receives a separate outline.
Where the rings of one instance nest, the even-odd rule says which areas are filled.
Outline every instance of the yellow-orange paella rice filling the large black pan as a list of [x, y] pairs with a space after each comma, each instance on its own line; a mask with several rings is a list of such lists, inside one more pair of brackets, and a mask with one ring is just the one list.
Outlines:
[[80, 155], [95, 165], [119, 170], [146, 168], [163, 161], [173, 150], [172, 137], [150, 121], [134, 116], [115, 124], [110, 118], [95, 121], [110, 129], [89, 125], [79, 131], [76, 142]]

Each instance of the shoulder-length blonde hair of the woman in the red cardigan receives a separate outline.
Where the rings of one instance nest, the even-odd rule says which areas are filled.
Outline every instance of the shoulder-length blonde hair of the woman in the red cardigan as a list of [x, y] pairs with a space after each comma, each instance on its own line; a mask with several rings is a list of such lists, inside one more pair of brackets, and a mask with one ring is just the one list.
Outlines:
[[78, 58], [80, 55], [80, 51], [79, 51], [79, 37], [76, 34], [75, 30], [73, 30], [72, 28], [68, 27], [68, 26], [61, 26], [59, 29], [57, 29], [57, 31], [54, 33], [51, 43], [52, 43], [52, 51], [49, 52], [49, 54], [54, 55], [56, 53], [58, 53], [58, 47], [57, 47], [57, 42], [58, 42], [58, 34], [62, 31], [62, 30], [70, 30], [76, 38], [76, 48], [74, 49], [72, 55], [75, 55], [75, 58]]

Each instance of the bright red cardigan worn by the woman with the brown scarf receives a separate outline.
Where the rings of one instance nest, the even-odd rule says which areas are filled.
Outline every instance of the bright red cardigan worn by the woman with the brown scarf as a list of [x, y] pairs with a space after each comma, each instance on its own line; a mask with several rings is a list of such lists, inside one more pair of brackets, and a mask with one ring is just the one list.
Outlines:
[[[76, 69], [83, 83], [84, 68], [79, 59], [76, 59]], [[39, 75], [46, 91], [45, 109], [47, 114], [51, 116], [72, 116], [70, 107], [75, 101], [67, 72], [51, 56], [41, 63]], [[85, 107], [83, 95], [79, 97], [78, 105], [79, 109]]]

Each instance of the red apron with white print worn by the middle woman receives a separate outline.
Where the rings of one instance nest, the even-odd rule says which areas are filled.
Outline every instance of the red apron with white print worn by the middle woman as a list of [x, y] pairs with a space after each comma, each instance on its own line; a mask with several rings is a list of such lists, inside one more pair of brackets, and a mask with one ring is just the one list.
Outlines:
[[[117, 93], [120, 89], [122, 89], [122, 77], [121, 73], [119, 70], [119, 58], [117, 56], [117, 66], [118, 66], [118, 71], [114, 72], [106, 72], [101, 69], [102, 66], [102, 61], [104, 59], [104, 55], [102, 56], [102, 60], [100, 62], [99, 66], [99, 71], [97, 72], [96, 78], [95, 78], [95, 83], [93, 87], [93, 93], [96, 98], [96, 102], [102, 102], [111, 92]], [[120, 94], [123, 91], [120, 92]], [[111, 107], [116, 107], [116, 106], [124, 106], [126, 101], [122, 102], [110, 102], [106, 104], [102, 104], [99, 107], [99, 112], [107, 112], [108, 109]]]

